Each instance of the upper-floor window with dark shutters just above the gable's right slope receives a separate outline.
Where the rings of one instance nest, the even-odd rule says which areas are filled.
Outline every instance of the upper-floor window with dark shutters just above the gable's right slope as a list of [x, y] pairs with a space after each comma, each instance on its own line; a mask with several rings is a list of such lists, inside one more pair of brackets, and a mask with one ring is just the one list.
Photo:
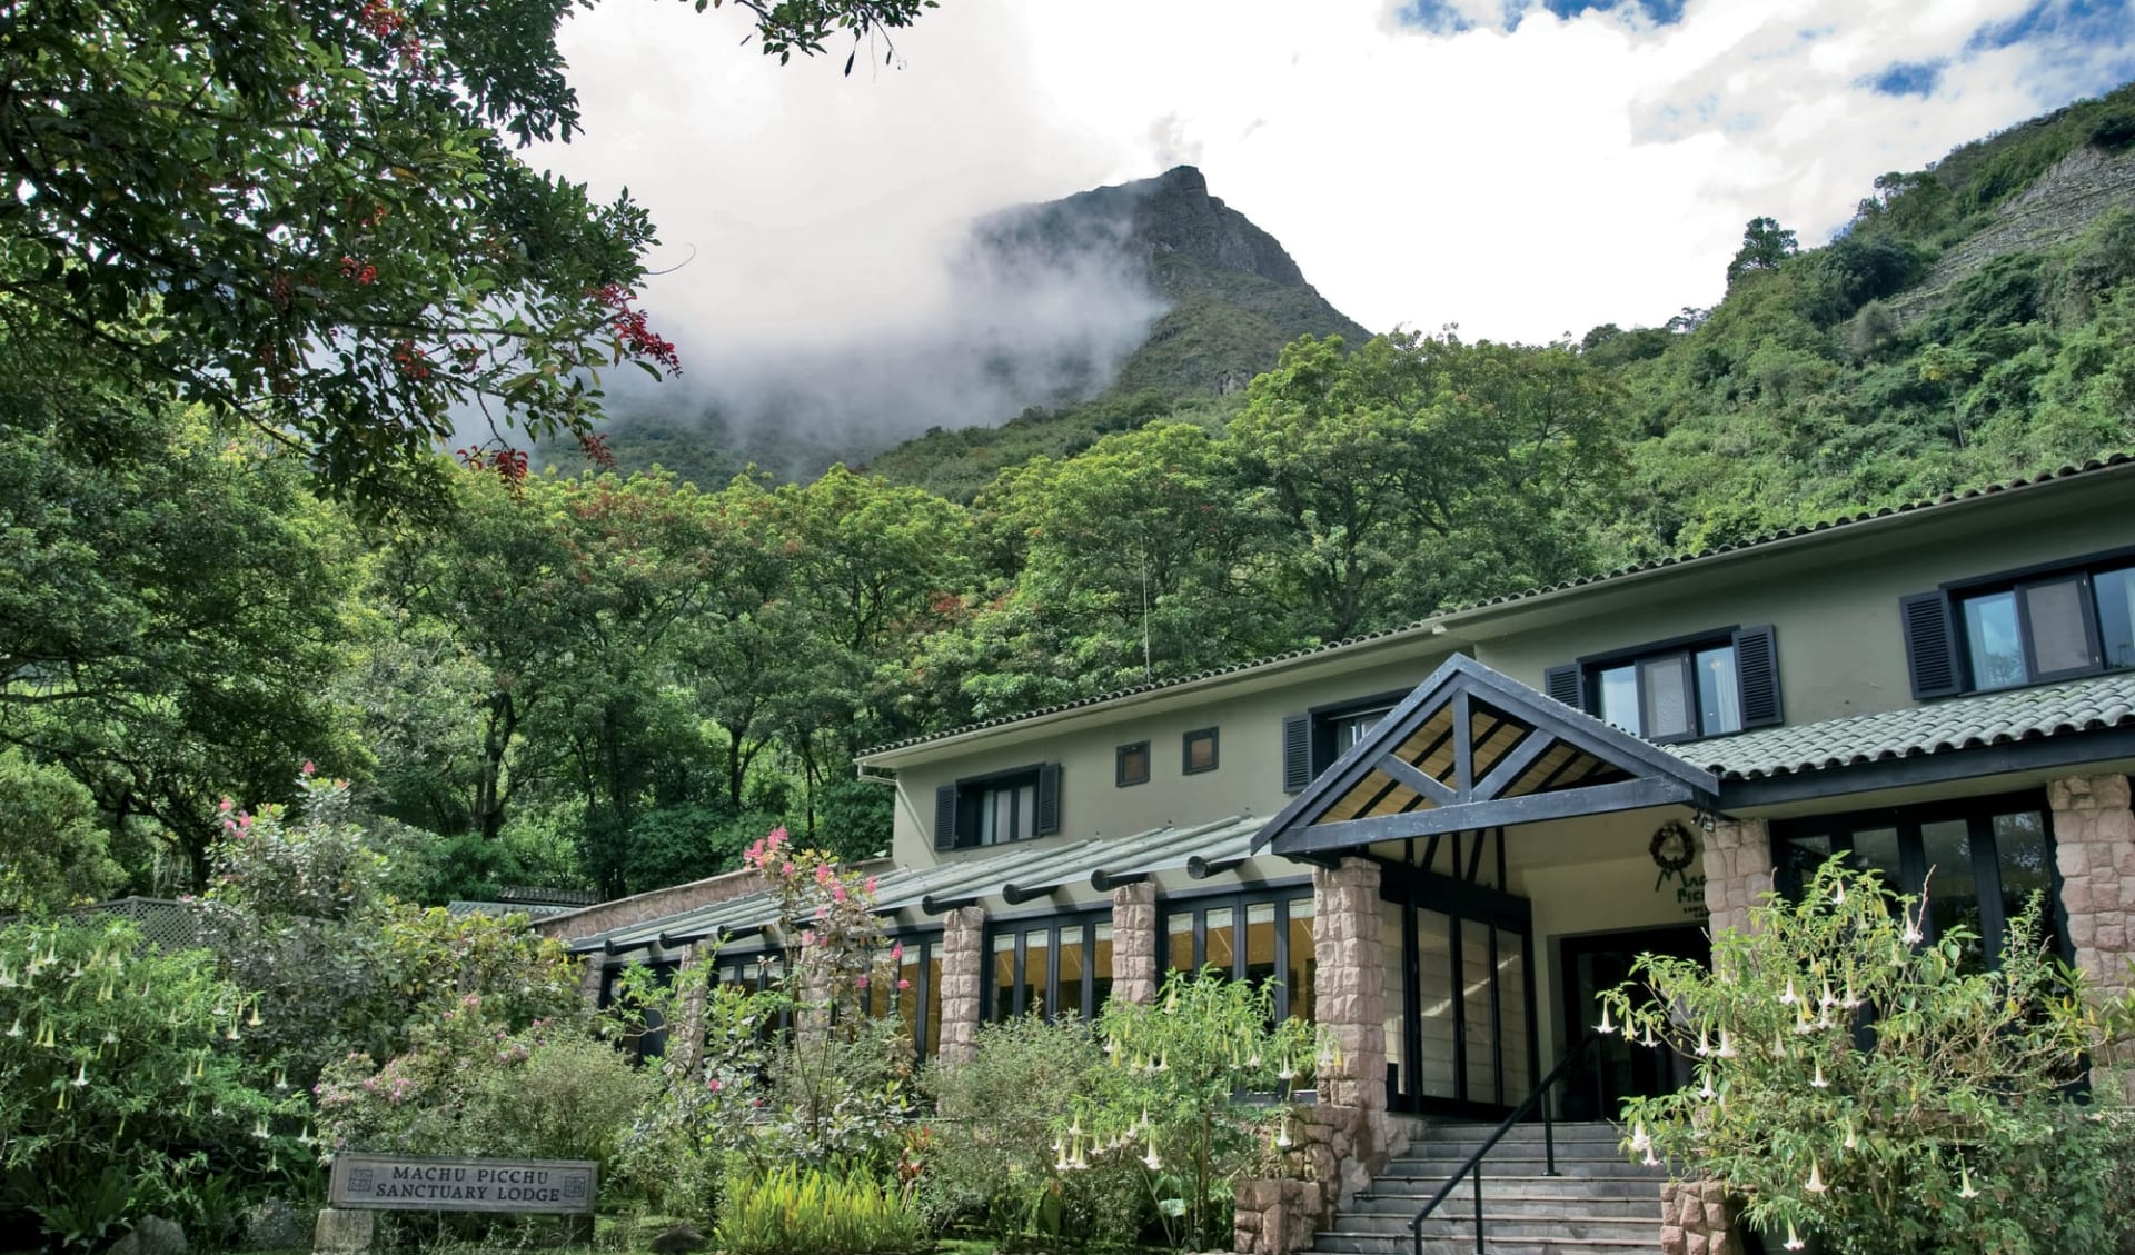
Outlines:
[[1699, 741], [1781, 721], [1772, 628], [1582, 657], [1544, 677], [1550, 696], [1646, 741]]

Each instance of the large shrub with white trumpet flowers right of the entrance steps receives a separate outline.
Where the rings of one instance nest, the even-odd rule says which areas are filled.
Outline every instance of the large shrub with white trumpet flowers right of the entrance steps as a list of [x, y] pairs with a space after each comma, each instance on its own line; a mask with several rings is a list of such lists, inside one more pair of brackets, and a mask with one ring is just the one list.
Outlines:
[[1697, 1089], [1629, 1101], [1631, 1150], [1725, 1180], [1789, 1251], [2112, 1251], [2129, 1131], [2067, 1097], [2097, 1022], [2039, 901], [2000, 971], [1971, 969], [1962, 926], [1924, 943], [1924, 918], [1834, 858], [1714, 937], [1710, 971], [1640, 958], [1599, 1029], [1693, 1059]]

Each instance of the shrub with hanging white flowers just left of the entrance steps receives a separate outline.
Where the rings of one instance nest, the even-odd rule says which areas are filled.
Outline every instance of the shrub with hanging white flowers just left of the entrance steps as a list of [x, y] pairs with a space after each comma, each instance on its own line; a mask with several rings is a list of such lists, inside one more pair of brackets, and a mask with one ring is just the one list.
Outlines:
[[[1326, 1048], [1304, 1020], [1272, 1020], [1270, 986], [1215, 969], [1170, 973], [1153, 1005], [1106, 1003], [1106, 1082], [1057, 1123], [1057, 1165], [1134, 1161], [1172, 1246], [1225, 1242], [1232, 1185], [1290, 1165], [1287, 1097]], [[1240, 1101], [1251, 1091], [1270, 1101]]]

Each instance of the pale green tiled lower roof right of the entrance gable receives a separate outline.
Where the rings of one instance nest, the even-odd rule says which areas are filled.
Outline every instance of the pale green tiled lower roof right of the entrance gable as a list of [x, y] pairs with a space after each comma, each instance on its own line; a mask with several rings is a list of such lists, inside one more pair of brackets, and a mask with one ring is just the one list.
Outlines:
[[1721, 779], [1768, 779], [2101, 728], [2135, 728], [2135, 672], [1768, 728], [1670, 749]]

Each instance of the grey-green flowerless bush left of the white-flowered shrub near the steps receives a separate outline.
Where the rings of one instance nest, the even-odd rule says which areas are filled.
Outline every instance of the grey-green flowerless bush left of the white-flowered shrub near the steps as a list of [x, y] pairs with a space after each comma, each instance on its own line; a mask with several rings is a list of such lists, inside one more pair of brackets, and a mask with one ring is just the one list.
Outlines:
[[1136, 1240], [1153, 1221], [1142, 1167], [1112, 1157], [1059, 1167], [1055, 1129], [1095, 1099], [1104, 1054], [1080, 1020], [1018, 1016], [978, 1031], [969, 1063], [933, 1065], [916, 1202], [935, 1229], [967, 1225], [991, 1238]]

